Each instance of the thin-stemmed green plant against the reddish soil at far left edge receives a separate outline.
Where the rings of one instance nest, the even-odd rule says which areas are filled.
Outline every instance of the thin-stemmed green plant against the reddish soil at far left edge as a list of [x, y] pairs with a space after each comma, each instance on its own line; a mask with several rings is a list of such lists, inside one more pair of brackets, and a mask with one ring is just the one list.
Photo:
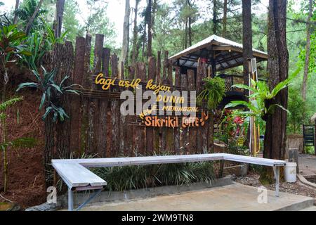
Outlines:
[[8, 141], [6, 137], [6, 118], [8, 117], [8, 115], [6, 115], [6, 110], [22, 100], [22, 97], [12, 98], [0, 104], [0, 120], [2, 128], [0, 149], [4, 153], [4, 193], [8, 190], [8, 148], [33, 148], [36, 145], [35, 139], [22, 137]]

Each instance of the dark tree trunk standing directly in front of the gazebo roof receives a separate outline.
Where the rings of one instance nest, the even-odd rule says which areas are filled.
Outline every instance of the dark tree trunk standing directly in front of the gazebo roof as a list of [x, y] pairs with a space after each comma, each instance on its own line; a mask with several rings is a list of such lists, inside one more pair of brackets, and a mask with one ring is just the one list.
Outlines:
[[[251, 0], [242, 0], [242, 42], [244, 46], [244, 84], [249, 85], [248, 59], [252, 58], [252, 26], [251, 26]], [[249, 92], [245, 92], [249, 96]]]

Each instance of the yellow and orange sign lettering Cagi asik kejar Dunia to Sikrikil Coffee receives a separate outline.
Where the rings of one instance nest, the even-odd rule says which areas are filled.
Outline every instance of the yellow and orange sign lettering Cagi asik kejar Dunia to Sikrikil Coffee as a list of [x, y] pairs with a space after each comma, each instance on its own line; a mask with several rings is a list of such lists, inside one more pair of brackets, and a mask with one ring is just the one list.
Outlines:
[[145, 83], [143, 91], [141, 79], [109, 78], [102, 73], [96, 76], [95, 83], [104, 91], [112, 86], [125, 88], [120, 96], [124, 101], [121, 115], [137, 115], [147, 127], [202, 127], [209, 120], [209, 113], [204, 110], [197, 117], [196, 91], [171, 91], [170, 86], [154, 84], [152, 79]]

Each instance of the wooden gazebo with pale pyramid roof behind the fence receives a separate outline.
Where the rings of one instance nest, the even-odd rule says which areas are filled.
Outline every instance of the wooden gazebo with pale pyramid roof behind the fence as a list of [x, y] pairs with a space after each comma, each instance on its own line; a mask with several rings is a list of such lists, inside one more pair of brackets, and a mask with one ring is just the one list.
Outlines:
[[[216, 72], [225, 79], [227, 93], [220, 106], [230, 101], [246, 100], [243, 89], [232, 88], [234, 84], [244, 84], [244, 75], [227, 75], [223, 71], [236, 68], [244, 64], [243, 46], [235, 41], [212, 35], [199, 41], [199, 43], [185, 49], [169, 59], [173, 64], [180, 67], [181, 73], [186, 74], [187, 70], [194, 70], [197, 73], [199, 58], [202, 58], [214, 77]], [[253, 49], [253, 56], [257, 63], [268, 60], [268, 53]]]

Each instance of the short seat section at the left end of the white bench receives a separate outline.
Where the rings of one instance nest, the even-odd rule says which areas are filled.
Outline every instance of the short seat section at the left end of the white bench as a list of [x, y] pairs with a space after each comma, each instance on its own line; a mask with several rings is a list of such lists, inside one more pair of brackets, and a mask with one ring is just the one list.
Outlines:
[[53, 167], [69, 188], [106, 186], [107, 182], [77, 163], [53, 163]]

